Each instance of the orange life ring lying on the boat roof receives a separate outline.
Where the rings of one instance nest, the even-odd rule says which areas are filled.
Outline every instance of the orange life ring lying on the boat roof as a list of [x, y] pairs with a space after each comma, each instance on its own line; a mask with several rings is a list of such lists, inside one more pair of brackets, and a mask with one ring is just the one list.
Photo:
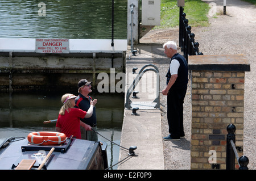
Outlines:
[[34, 145], [57, 145], [66, 141], [67, 136], [59, 132], [32, 132], [27, 140]]

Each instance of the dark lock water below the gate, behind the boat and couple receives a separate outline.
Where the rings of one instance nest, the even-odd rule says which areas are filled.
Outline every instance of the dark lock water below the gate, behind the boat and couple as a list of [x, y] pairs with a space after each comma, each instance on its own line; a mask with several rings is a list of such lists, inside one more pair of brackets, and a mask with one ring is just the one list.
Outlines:
[[[55, 131], [55, 123], [43, 124], [43, 121], [57, 119], [62, 106], [60, 99], [63, 94], [0, 93], [0, 143], [9, 137], [27, 137], [35, 131]], [[120, 143], [123, 121], [123, 95], [91, 95], [97, 98], [98, 132]], [[109, 166], [118, 162], [119, 147], [105, 138], [99, 140], [108, 144]], [[117, 169], [117, 166], [113, 167]]]

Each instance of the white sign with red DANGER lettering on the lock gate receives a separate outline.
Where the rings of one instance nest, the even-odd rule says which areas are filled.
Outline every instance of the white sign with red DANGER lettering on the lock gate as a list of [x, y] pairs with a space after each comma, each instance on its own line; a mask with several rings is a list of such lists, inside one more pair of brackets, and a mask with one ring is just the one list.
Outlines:
[[69, 39], [36, 39], [37, 53], [69, 53]]

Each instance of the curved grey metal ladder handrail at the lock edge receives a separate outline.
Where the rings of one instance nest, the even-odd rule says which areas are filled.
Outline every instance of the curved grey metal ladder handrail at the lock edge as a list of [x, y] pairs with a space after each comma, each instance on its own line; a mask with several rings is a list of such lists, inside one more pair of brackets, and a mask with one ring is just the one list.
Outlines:
[[[144, 70], [148, 66], [152, 66], [155, 69], [150, 68], [150, 69]], [[127, 90], [127, 93], [126, 93], [126, 103], [125, 103], [125, 107], [126, 108], [128, 108], [128, 109], [133, 108], [130, 105], [130, 103], [131, 103], [131, 100], [130, 100], [131, 93], [133, 92], [135, 87], [138, 85], [139, 81], [141, 80], [141, 78], [144, 75], [144, 73], [146, 73], [146, 71], [154, 71], [156, 73], [156, 75], [157, 75], [157, 78], [156, 78], [156, 85], [157, 85], [156, 86], [156, 98], [155, 98], [155, 100], [153, 102], [156, 102], [156, 105], [155, 105], [154, 108], [160, 108], [160, 92], [159, 92], [160, 77], [159, 77], [159, 70], [158, 70], [158, 68], [154, 64], [144, 65], [143, 68], [139, 71], [138, 75], [135, 77], [133, 83], [130, 85], [130, 87]]]

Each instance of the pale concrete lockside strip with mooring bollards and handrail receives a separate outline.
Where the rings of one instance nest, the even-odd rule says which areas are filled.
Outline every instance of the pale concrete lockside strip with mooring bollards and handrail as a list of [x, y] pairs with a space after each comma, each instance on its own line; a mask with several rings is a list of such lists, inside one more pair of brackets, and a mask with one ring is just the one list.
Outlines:
[[[135, 49], [138, 51], [136, 56], [131, 56], [131, 52], [127, 52], [126, 92], [130, 85], [133, 85], [133, 80], [143, 66], [153, 63], [151, 46], [137, 45]], [[138, 68], [134, 74], [133, 68]], [[151, 68], [149, 66], [144, 70]], [[156, 78], [154, 71], [147, 71], [135, 87], [134, 91], [138, 91], [137, 98], [132, 98], [133, 94], [130, 96], [131, 107], [138, 107], [139, 110], [138, 115], [132, 115], [131, 109], [125, 109], [121, 145], [125, 148], [137, 146], [137, 149], [134, 150], [135, 156], [119, 165], [118, 169], [164, 169], [160, 110], [154, 108], [154, 100], [158, 97]], [[120, 149], [119, 160], [127, 157], [128, 153], [129, 151]]]

